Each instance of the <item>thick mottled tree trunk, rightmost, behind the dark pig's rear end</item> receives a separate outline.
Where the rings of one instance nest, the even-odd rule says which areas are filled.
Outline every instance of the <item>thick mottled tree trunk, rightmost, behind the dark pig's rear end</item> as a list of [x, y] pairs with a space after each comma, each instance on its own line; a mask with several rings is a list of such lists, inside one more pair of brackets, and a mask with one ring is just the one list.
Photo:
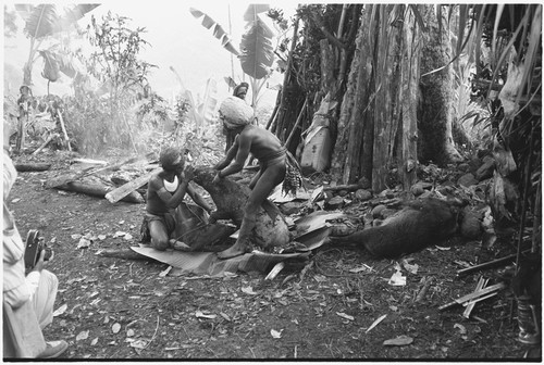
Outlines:
[[[423, 8], [429, 32], [423, 34], [421, 90], [422, 111], [420, 117], [420, 158], [444, 165], [460, 158], [454, 147], [452, 135], [453, 67], [449, 26], [446, 20], [437, 23], [433, 5]], [[437, 72], [433, 72], [444, 67]], [[433, 73], [431, 73], [433, 72]], [[431, 73], [431, 74], [429, 74]]]

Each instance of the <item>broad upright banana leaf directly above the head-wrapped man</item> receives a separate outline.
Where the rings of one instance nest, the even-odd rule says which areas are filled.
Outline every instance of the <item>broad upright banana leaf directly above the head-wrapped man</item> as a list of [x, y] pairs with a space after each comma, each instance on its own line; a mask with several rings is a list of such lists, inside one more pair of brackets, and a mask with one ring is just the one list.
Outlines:
[[240, 65], [246, 74], [257, 79], [269, 75], [274, 63], [272, 37], [274, 34], [259, 17], [256, 17], [242, 37]]

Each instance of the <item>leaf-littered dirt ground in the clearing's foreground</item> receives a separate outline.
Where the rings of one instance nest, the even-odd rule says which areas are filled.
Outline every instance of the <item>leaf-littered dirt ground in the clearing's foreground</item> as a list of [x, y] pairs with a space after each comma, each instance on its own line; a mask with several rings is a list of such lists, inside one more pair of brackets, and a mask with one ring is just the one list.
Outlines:
[[[22, 236], [39, 229], [54, 250], [47, 267], [60, 281], [59, 314], [45, 336], [70, 343], [65, 360], [518, 361], [529, 349], [517, 341], [508, 289], [479, 302], [470, 319], [460, 305], [438, 311], [472, 292], [480, 274], [490, 285], [502, 280], [504, 267], [457, 277], [458, 262], [503, 257], [511, 246], [489, 250], [454, 238], [410, 254], [403, 259], [419, 268], [403, 268], [406, 286], [388, 284], [403, 260], [330, 244], [311, 254], [306, 269], [287, 267], [273, 280], [260, 273], [164, 276], [166, 264], [96, 254], [137, 244], [144, 204], [47, 189], [50, 177], [67, 172], [67, 154], [14, 160], [53, 163], [47, 172], [20, 173], [10, 204]], [[78, 247], [86, 234], [96, 239]], [[416, 301], [425, 279], [432, 279], [426, 295]], [[407, 344], [384, 344], [392, 339]]]

